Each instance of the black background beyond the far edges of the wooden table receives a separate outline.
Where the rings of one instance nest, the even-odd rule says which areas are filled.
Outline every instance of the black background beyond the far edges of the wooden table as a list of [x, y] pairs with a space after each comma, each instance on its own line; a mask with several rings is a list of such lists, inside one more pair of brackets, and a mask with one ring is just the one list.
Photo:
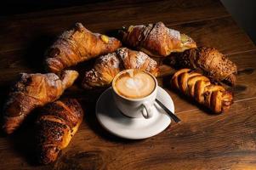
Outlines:
[[[8, 0], [0, 5], [1, 16], [22, 14], [53, 8], [65, 8], [85, 3], [98, 3], [104, 0]], [[128, 0], [129, 1], [129, 0]], [[256, 44], [256, 1], [220, 0], [230, 12], [237, 24], [247, 32]], [[171, 3], [171, 2], [170, 2]], [[1, 28], [0, 28], [1, 29]]]

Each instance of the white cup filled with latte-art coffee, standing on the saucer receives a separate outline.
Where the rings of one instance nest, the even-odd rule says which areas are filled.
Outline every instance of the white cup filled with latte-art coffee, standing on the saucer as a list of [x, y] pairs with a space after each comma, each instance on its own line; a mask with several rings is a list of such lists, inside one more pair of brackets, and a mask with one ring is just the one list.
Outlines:
[[157, 93], [157, 81], [148, 71], [121, 71], [112, 82], [112, 94], [119, 111], [134, 118], [151, 118]]

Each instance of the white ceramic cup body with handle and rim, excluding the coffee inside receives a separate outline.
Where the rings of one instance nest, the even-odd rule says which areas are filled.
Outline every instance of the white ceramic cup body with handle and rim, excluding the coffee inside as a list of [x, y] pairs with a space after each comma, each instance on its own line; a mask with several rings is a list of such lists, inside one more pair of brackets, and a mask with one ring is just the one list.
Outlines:
[[[133, 69], [130, 69], [133, 70]], [[134, 117], [134, 118], [151, 118], [154, 115], [153, 107], [156, 100], [156, 93], [157, 93], [157, 81], [156, 77], [154, 77], [150, 72], [144, 71], [145, 73], [149, 74], [155, 82], [155, 88], [151, 92], [151, 94], [139, 98], [139, 99], [131, 99], [124, 97], [116, 92], [116, 88], [114, 87], [114, 84], [117, 80], [117, 77], [122, 75], [124, 72], [127, 72], [129, 70], [121, 71], [117, 74], [116, 77], [114, 77], [112, 82], [112, 94], [115, 104], [117, 105], [117, 108], [119, 111], [122, 111], [122, 113], [125, 116]]]

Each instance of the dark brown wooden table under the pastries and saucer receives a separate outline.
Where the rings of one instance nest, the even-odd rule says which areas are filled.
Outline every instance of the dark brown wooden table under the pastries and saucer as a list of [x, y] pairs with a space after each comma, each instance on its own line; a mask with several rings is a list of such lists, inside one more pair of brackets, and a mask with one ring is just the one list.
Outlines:
[[14, 78], [20, 72], [43, 72], [45, 48], [75, 22], [108, 33], [160, 20], [187, 33], [199, 46], [218, 48], [236, 63], [239, 75], [236, 88], [231, 88], [235, 103], [230, 111], [208, 114], [164, 87], [182, 122], [150, 139], [119, 139], [96, 121], [94, 103], [100, 92], [84, 91], [78, 81], [64, 97], [79, 99], [86, 116], [59, 159], [48, 166], [35, 163], [31, 117], [13, 135], [1, 133], [0, 169], [255, 169], [256, 48], [216, 0], [113, 0], [0, 17], [1, 107]]

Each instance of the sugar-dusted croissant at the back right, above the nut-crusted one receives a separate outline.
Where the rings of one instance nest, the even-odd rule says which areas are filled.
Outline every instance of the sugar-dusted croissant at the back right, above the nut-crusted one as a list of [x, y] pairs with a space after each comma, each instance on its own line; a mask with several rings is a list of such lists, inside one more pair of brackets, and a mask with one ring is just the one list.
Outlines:
[[196, 48], [196, 42], [179, 31], [169, 29], [162, 22], [148, 26], [129, 26], [119, 31], [122, 42], [155, 57], [165, 57], [173, 52]]

